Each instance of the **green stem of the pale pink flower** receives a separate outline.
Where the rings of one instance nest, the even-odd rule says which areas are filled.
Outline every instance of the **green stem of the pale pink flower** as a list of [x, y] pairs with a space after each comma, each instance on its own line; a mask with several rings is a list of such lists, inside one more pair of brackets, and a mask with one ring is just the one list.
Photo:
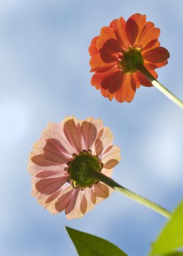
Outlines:
[[145, 205], [146, 207], [152, 209], [155, 212], [158, 212], [159, 214], [163, 215], [164, 217], [166, 217], [168, 219], [171, 218], [170, 211], [164, 209], [160, 205], [155, 204], [154, 202], [151, 202], [150, 200], [144, 198], [143, 196], [137, 195], [136, 193], [132, 192], [131, 190], [124, 188], [123, 186], [121, 186], [120, 184], [115, 182], [115, 180], [107, 177], [103, 173], [96, 172], [95, 170], [93, 170], [93, 172], [90, 172], [90, 177], [102, 181], [109, 187], [122, 193], [124, 196], [131, 198], [132, 200], [138, 202], [139, 204]]

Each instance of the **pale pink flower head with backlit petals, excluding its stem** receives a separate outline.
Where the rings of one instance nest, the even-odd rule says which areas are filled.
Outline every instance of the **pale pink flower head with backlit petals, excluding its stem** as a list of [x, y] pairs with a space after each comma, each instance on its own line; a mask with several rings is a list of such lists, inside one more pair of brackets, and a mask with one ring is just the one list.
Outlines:
[[88, 175], [95, 170], [111, 176], [120, 161], [120, 148], [112, 143], [113, 135], [100, 119], [72, 116], [48, 124], [29, 156], [37, 202], [52, 214], [65, 210], [68, 219], [91, 211], [113, 191]]

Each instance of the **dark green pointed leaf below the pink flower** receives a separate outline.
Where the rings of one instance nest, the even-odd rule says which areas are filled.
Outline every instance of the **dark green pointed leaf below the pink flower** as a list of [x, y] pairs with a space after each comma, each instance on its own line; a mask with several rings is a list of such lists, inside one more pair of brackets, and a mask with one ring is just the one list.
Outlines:
[[65, 227], [79, 256], [127, 256], [120, 248], [97, 236]]

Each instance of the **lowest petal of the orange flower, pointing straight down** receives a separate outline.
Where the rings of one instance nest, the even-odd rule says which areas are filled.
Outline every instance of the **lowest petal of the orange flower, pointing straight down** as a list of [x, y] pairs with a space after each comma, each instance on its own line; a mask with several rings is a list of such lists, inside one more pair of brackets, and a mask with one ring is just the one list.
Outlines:
[[122, 86], [115, 95], [118, 102], [131, 102], [136, 92], [136, 82], [132, 75], [125, 74]]

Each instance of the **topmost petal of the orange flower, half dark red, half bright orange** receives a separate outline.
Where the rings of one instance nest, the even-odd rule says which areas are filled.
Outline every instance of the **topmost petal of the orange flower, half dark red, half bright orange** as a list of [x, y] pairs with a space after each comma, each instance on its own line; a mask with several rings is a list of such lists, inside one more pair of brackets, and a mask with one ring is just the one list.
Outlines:
[[127, 20], [126, 33], [129, 38], [129, 42], [134, 46], [141, 36], [141, 33], [145, 27], [146, 15], [139, 13], [133, 14]]

